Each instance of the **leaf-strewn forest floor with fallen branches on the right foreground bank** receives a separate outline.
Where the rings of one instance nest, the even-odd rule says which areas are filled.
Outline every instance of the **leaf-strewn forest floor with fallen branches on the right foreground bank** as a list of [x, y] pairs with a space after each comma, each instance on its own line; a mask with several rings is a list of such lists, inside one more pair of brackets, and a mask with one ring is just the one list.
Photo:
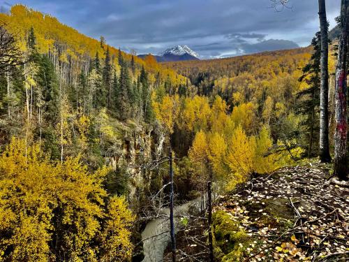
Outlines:
[[285, 167], [221, 196], [214, 212], [228, 214], [245, 235], [239, 242], [214, 224], [223, 260], [349, 261], [349, 189], [329, 177], [328, 166], [318, 163]]

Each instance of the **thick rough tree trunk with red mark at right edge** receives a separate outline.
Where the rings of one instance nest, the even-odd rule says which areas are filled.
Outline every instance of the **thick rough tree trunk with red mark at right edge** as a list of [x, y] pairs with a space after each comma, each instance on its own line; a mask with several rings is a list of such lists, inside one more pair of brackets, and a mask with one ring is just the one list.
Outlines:
[[334, 133], [334, 175], [348, 180], [347, 162], [347, 52], [349, 0], [341, 1], [341, 36], [336, 66], [336, 131]]

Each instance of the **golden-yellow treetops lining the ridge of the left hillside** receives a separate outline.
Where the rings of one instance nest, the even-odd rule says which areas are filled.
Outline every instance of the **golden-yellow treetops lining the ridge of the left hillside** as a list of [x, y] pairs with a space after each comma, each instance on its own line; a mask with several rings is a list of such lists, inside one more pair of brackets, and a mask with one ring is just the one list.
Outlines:
[[[110, 57], [117, 57], [119, 50], [110, 45], [101, 44], [98, 40], [80, 34], [76, 29], [62, 24], [57, 18], [49, 14], [43, 14], [31, 8], [27, 8], [21, 4], [13, 5], [10, 8], [10, 13], [0, 13], [0, 20], [6, 23], [8, 31], [17, 37], [17, 45], [23, 52], [27, 52], [27, 36], [28, 32], [33, 27], [36, 36], [36, 48], [41, 54], [54, 54], [57, 61], [64, 63], [73, 63], [73, 71], [75, 75], [79, 74], [84, 64], [89, 59], [94, 58], [98, 52], [101, 59], [105, 58], [104, 48], [108, 48]], [[135, 64], [139, 67], [144, 66], [149, 74], [150, 84], [154, 84], [154, 75], [160, 75], [161, 79], [169, 78], [172, 85], [178, 87], [185, 85], [186, 78], [178, 75], [170, 68], [163, 68], [158, 64], [151, 55], [141, 59], [133, 54], [121, 52], [121, 56], [126, 61], [131, 61], [132, 57]], [[113, 59], [112, 64], [115, 66], [119, 74], [119, 64], [117, 59]]]

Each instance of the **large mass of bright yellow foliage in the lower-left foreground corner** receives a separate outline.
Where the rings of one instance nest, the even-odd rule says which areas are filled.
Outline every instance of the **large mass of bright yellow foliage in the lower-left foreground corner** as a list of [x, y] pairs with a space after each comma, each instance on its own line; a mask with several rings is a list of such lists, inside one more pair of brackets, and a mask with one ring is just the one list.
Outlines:
[[52, 162], [38, 145], [25, 152], [13, 138], [0, 156], [0, 260], [96, 261], [101, 252], [125, 261], [134, 217], [124, 198], [103, 189], [107, 169], [89, 173], [79, 158]]

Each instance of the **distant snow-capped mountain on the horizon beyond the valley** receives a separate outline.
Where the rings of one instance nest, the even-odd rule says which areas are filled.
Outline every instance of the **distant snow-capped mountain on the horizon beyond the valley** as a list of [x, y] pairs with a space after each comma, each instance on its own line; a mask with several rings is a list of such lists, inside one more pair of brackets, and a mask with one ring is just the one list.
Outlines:
[[[144, 58], [147, 54], [139, 54], [138, 57]], [[172, 48], [168, 48], [158, 55], [154, 55], [156, 61], [184, 61], [184, 60], [200, 60], [199, 55], [188, 48], [187, 45], [175, 45]]]

